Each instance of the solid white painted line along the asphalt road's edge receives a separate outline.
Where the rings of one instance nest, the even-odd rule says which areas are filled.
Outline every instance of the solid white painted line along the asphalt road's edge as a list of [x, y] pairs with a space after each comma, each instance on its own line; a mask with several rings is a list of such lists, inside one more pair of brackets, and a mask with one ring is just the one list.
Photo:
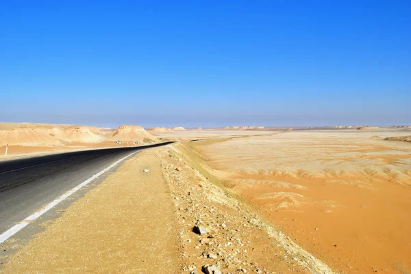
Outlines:
[[62, 202], [64, 199], [66, 199], [66, 197], [69, 197], [71, 194], [75, 193], [76, 191], [78, 191], [79, 189], [84, 187], [86, 184], [89, 184], [90, 182], [95, 180], [95, 178], [98, 178], [99, 176], [101, 176], [105, 172], [108, 172], [109, 169], [111, 169], [115, 165], [121, 163], [122, 161], [127, 159], [129, 156], [132, 156], [133, 154], [136, 154], [138, 151], [132, 152], [132, 153], [128, 154], [127, 156], [121, 158], [119, 161], [116, 161], [116, 162], [112, 163], [112, 165], [109, 165], [108, 167], [105, 167], [105, 169], [101, 170], [101, 172], [91, 176], [91, 178], [88, 178], [87, 180], [85, 180], [84, 182], [79, 184], [77, 187], [74, 187], [70, 191], [67, 191], [66, 193], [64, 193], [63, 195], [58, 197], [58, 199], [55, 199], [50, 204], [47, 204], [47, 206], [45, 208], [43, 208], [42, 210], [30, 215], [29, 217], [27, 217], [26, 219], [24, 219], [20, 223], [17, 223], [16, 225], [14, 225], [12, 228], [7, 230], [6, 232], [3, 232], [3, 234], [0, 235], [0, 244], [3, 243], [8, 238], [10, 238], [11, 236], [13, 236], [14, 234], [16, 234], [17, 232], [19, 232], [20, 230], [22, 230], [23, 228], [25, 228], [25, 226], [28, 225], [31, 221], [34, 221], [35, 219], [37, 219], [41, 215], [47, 213], [47, 211], [49, 211], [54, 206], [60, 204], [60, 202]]

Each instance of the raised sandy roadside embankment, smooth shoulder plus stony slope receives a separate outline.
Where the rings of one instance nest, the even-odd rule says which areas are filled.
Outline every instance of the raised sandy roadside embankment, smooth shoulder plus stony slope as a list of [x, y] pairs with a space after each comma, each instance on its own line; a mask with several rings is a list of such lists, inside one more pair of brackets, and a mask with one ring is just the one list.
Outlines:
[[206, 176], [184, 146], [136, 154], [0, 273], [334, 273]]

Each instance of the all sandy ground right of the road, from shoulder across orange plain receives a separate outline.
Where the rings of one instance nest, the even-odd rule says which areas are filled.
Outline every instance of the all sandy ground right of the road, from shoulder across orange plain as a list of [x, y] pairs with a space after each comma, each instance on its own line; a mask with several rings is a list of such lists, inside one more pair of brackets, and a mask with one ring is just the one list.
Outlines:
[[0, 273], [411, 273], [409, 143], [305, 134], [136, 154]]

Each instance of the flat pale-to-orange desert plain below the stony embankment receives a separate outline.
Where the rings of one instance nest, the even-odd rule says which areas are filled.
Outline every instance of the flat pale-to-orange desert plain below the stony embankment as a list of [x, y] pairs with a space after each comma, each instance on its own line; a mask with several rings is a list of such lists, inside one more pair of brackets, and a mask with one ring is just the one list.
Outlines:
[[411, 273], [404, 131], [288, 131], [188, 143], [276, 228], [341, 273]]

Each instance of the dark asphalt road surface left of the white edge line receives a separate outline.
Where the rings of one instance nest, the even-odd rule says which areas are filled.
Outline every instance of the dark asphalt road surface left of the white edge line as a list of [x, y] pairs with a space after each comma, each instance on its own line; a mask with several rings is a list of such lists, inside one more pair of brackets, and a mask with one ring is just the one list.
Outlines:
[[124, 156], [168, 143], [1, 161], [0, 234]]

